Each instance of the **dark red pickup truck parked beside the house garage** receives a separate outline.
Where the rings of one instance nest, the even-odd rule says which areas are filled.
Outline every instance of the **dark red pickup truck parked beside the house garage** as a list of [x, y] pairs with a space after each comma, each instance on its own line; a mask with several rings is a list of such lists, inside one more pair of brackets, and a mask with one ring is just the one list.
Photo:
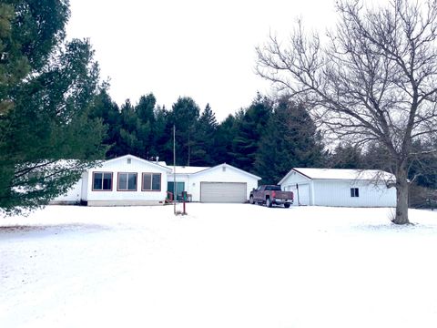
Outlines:
[[261, 203], [268, 207], [284, 205], [285, 208], [290, 208], [293, 203], [293, 192], [282, 191], [278, 185], [262, 185], [250, 192], [249, 201], [250, 204]]

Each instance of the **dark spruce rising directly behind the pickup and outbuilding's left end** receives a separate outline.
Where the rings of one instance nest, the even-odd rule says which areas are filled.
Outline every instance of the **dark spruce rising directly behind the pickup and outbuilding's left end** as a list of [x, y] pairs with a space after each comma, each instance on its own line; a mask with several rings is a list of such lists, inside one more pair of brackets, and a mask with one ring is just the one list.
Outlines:
[[256, 153], [254, 166], [262, 182], [276, 184], [293, 167], [319, 167], [323, 156], [320, 133], [305, 108], [279, 99]]

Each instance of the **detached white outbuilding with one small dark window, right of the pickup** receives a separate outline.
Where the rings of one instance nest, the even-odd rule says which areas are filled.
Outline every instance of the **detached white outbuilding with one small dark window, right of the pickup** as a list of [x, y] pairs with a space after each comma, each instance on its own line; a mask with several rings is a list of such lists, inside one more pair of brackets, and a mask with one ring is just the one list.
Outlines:
[[343, 207], [395, 207], [395, 178], [374, 169], [294, 168], [279, 181], [294, 192], [294, 205]]

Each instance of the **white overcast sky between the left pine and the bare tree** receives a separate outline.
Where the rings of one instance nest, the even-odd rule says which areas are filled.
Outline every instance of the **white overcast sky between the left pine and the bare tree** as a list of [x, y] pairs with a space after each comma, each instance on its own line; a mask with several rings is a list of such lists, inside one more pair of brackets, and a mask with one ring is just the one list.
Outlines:
[[255, 46], [290, 34], [297, 17], [327, 26], [333, 0], [70, 0], [68, 37], [89, 37], [101, 77], [121, 105], [153, 92], [210, 104], [219, 121], [249, 106], [269, 84], [254, 73]]

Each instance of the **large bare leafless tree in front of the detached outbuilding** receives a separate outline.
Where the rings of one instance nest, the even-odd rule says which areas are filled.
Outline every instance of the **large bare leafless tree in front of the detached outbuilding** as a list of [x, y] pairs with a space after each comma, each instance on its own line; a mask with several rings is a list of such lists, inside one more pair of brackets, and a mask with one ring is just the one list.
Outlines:
[[311, 105], [311, 114], [340, 138], [378, 142], [394, 163], [394, 223], [408, 220], [412, 142], [437, 131], [437, 0], [392, 0], [365, 7], [340, 0], [327, 42], [298, 23], [290, 44], [270, 36], [257, 48], [257, 72]]

